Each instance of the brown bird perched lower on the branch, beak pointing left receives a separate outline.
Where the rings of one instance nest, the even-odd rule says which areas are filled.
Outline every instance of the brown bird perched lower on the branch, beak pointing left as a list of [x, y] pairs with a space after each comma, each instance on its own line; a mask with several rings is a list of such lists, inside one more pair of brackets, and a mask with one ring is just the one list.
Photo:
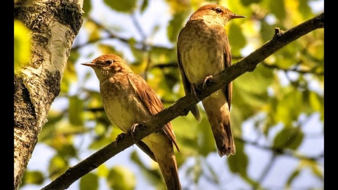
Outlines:
[[[104, 55], [82, 64], [94, 69], [106, 114], [123, 132], [164, 109], [148, 83], [133, 73], [121, 57]], [[150, 134], [136, 145], [158, 163], [167, 189], [181, 190], [172, 143], [179, 151], [169, 122], [161, 131]]]

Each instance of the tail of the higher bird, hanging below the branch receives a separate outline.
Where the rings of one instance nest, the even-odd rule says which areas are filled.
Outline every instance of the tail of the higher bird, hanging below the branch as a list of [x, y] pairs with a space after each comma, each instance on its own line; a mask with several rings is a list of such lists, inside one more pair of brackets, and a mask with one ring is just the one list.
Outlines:
[[235, 154], [230, 110], [225, 95], [221, 92], [215, 93], [202, 100], [202, 103], [211, 125], [219, 156]]

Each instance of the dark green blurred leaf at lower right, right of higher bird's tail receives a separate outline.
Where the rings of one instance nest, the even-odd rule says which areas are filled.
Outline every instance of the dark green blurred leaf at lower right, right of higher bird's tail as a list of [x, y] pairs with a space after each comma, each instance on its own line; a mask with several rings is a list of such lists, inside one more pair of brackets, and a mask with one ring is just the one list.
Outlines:
[[304, 133], [298, 127], [285, 127], [276, 134], [274, 149], [292, 149], [296, 150], [302, 143]]

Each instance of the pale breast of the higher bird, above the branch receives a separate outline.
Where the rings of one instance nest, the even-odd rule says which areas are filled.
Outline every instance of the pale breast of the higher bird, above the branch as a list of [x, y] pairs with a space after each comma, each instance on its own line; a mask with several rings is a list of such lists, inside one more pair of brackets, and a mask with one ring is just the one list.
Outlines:
[[183, 69], [191, 83], [200, 83], [206, 76], [223, 71], [224, 28], [217, 29], [203, 23], [188, 25], [182, 30], [178, 49]]

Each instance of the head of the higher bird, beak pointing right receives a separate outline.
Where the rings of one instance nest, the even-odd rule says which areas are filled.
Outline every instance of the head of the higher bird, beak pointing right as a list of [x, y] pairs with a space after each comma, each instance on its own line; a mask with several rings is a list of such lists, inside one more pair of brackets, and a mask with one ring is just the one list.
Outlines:
[[236, 15], [228, 8], [218, 4], [207, 4], [197, 9], [191, 15], [190, 20], [203, 19], [206, 22], [216, 22], [225, 26], [229, 20], [239, 18], [246, 18], [246, 16]]

